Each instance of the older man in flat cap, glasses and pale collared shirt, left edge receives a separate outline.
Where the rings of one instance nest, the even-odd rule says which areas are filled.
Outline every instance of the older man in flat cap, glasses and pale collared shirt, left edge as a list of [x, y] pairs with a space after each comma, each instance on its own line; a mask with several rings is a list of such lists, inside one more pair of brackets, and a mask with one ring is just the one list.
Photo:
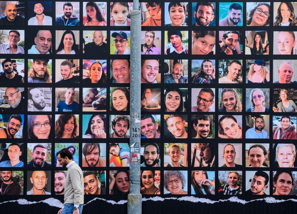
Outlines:
[[8, 33], [7, 39], [9, 44], [0, 45], [1, 54], [24, 54], [24, 48], [16, 45], [20, 40], [20, 33], [17, 30], [11, 30]]

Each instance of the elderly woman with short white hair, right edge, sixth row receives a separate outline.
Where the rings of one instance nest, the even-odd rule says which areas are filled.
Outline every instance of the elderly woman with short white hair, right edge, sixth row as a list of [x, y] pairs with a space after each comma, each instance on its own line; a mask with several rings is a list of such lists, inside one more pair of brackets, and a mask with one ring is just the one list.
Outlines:
[[278, 143], [276, 146], [276, 167], [294, 168], [296, 147], [292, 143]]

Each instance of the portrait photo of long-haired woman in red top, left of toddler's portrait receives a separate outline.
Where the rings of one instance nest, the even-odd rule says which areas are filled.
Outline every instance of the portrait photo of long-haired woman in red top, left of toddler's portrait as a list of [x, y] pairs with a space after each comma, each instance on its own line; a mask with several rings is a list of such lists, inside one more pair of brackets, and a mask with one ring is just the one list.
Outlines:
[[106, 26], [106, 2], [83, 2], [83, 25]]

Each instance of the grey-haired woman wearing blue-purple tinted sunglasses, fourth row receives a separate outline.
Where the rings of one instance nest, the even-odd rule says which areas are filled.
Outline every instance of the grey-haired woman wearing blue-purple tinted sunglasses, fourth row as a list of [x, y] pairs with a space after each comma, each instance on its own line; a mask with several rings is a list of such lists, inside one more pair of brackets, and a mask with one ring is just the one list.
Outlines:
[[247, 112], [269, 112], [269, 108], [265, 107], [265, 96], [261, 89], [253, 89], [250, 93], [252, 107]]

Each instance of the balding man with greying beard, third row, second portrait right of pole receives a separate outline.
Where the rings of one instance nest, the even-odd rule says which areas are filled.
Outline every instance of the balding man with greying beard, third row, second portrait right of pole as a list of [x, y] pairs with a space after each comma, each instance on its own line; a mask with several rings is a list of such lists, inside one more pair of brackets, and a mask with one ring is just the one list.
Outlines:
[[174, 62], [171, 74], [165, 74], [164, 83], [188, 83], [188, 77], [183, 76], [183, 64]]

